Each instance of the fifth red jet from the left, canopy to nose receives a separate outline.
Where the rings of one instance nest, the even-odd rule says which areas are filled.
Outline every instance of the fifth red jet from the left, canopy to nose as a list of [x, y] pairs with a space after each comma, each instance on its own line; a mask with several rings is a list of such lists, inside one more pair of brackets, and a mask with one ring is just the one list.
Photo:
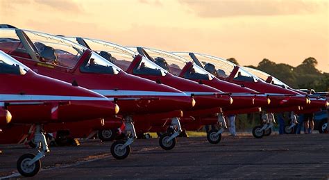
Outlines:
[[[290, 115], [290, 119], [292, 120], [292, 125], [290, 127], [297, 123], [297, 117], [295, 113], [307, 113], [314, 111], [314, 109], [317, 109], [317, 111], [319, 109], [319, 102], [314, 101], [314, 103], [311, 104], [310, 98], [305, 95], [305, 93], [301, 94], [294, 90], [289, 90], [278, 87], [277, 85], [265, 83], [257, 76], [254, 76], [253, 74], [244, 70], [243, 67], [239, 67], [234, 63], [230, 63], [228, 60], [205, 54], [174, 54], [194, 61], [194, 63], [199, 65], [199, 67], [203, 67], [208, 72], [214, 73], [219, 79], [223, 79], [231, 83], [236, 83], [247, 88], [253, 88], [254, 90], [262, 92], [265, 95], [269, 95], [271, 98], [271, 104], [265, 107], [264, 111], [267, 111], [268, 113], [291, 111], [292, 113]], [[271, 117], [273, 117], [273, 114], [271, 114]], [[255, 136], [255, 138], [261, 138], [264, 136], [264, 132], [268, 129], [269, 126], [271, 126], [271, 124], [268, 123], [255, 126], [253, 129], [253, 136]]]

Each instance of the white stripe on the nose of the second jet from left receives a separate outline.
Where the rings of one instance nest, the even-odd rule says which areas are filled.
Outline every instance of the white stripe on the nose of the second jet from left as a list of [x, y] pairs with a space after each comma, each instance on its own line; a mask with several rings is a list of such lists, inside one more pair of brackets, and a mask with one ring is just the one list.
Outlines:
[[92, 90], [106, 97], [122, 97], [122, 96], [175, 96], [186, 97], [183, 92], [160, 92], [160, 91], [144, 91], [144, 90]]

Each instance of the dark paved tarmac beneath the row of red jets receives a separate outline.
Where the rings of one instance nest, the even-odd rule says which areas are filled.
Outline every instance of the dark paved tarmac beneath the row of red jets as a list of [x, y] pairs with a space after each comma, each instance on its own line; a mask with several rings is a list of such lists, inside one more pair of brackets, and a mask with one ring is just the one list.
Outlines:
[[[178, 138], [171, 151], [158, 139], [136, 140], [125, 160], [110, 155], [112, 142], [87, 140], [79, 147], [52, 147], [35, 178], [112, 179], [328, 179], [329, 135], [223, 136], [219, 145], [205, 138]], [[34, 149], [0, 146], [0, 177], [19, 177], [17, 158]]]

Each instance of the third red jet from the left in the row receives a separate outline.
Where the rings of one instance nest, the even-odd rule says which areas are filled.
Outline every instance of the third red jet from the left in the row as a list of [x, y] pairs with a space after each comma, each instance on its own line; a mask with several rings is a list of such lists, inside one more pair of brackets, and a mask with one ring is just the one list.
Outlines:
[[[137, 56], [134, 51], [131, 51], [126, 47], [121, 47], [117, 44], [112, 44], [102, 40], [93, 40], [90, 38], [65, 38], [78, 42], [79, 44], [96, 51], [98, 54], [103, 56], [103, 58], [106, 58], [111, 63], [115, 63], [115, 65], [121, 67], [121, 69], [124, 69], [129, 74], [134, 74], [157, 83], [169, 85], [178, 90], [182, 90], [187, 95], [194, 96], [194, 99], [197, 101], [196, 106], [184, 111], [183, 118], [180, 121], [183, 127], [187, 130], [200, 129], [203, 125], [217, 124], [217, 122], [221, 124], [220, 122], [223, 118], [221, 108], [219, 107], [231, 106], [230, 101], [233, 99], [228, 96], [228, 93], [223, 93], [220, 90], [212, 88], [208, 85], [174, 76], [170, 74], [167, 69], [163, 69], [159, 65], [155, 64], [155, 62], [147, 58]], [[219, 113], [219, 115], [216, 115], [217, 113]], [[163, 129], [160, 129], [159, 127], [155, 129], [154, 126], [151, 130], [163, 131]], [[210, 142], [218, 143], [221, 140], [222, 130], [217, 130], [216, 133], [217, 132], [219, 132], [219, 136], [217, 136], [218, 138], [214, 141], [210, 140]], [[160, 145], [166, 144], [163, 142], [164, 138], [162, 137], [164, 136], [168, 135], [160, 135]]]

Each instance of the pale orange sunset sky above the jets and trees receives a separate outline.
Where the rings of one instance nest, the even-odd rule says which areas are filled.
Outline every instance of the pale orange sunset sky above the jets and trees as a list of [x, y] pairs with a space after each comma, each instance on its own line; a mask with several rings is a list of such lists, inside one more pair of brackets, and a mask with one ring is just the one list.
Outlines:
[[328, 1], [1, 0], [0, 24], [165, 51], [196, 51], [242, 65], [268, 58], [329, 72]]

